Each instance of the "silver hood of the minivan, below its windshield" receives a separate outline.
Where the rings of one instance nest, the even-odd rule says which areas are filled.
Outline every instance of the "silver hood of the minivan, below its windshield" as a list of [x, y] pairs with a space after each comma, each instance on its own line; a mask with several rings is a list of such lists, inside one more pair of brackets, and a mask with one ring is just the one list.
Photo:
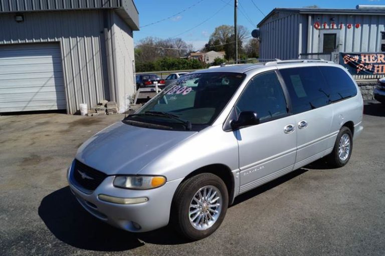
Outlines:
[[107, 175], [137, 174], [195, 131], [169, 131], [115, 123], [84, 142], [76, 159]]

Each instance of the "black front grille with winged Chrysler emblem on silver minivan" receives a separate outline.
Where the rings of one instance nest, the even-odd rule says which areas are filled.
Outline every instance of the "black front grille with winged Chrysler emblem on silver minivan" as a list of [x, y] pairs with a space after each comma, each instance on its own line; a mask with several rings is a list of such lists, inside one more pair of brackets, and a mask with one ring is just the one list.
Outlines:
[[85, 189], [95, 190], [106, 177], [107, 174], [75, 159], [74, 178]]

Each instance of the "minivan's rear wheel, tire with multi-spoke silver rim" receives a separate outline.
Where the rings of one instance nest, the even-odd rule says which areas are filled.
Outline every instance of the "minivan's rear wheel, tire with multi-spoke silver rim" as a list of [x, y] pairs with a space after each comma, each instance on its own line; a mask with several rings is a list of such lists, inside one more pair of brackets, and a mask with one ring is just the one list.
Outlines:
[[[344, 139], [341, 141], [341, 138]], [[337, 139], [335, 140], [333, 151], [327, 157], [328, 163], [332, 167], [342, 167], [347, 164], [351, 156], [351, 151], [353, 150], [352, 138], [353, 135], [351, 134], [350, 129], [346, 126], [342, 126], [341, 130], [339, 130], [339, 133], [337, 135]], [[346, 144], [346, 139], [348, 139], [348, 145]], [[346, 151], [344, 151], [345, 153], [343, 153], [342, 156], [340, 155], [340, 142], [344, 144], [344, 146], [341, 144], [341, 150], [346, 149], [347, 146], [349, 147], [347, 155], [345, 154]]]

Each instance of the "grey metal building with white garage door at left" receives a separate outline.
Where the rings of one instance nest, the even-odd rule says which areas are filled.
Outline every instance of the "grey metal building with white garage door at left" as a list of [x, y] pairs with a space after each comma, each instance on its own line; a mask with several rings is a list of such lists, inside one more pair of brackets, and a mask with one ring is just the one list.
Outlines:
[[132, 0], [0, 0], [0, 112], [88, 107], [135, 93]]

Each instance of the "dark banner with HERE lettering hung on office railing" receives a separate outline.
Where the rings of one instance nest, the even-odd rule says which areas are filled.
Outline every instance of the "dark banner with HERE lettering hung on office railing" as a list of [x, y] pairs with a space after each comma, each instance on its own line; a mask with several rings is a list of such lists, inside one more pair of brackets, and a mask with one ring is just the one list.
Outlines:
[[339, 54], [339, 64], [352, 75], [385, 74], [385, 53]]

